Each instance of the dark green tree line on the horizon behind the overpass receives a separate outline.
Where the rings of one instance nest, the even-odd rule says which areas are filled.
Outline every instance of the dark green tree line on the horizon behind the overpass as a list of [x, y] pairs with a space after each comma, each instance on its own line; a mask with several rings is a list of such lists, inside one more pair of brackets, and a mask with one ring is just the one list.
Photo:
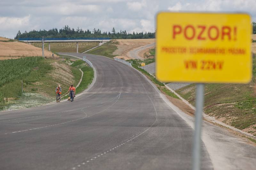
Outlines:
[[155, 32], [133, 32], [127, 33], [125, 30], [120, 32], [116, 31], [113, 27], [111, 32], [101, 32], [100, 29], [93, 29], [90, 31], [89, 29], [83, 30], [82, 28], [70, 28], [68, 25], [65, 25], [61, 29], [52, 28], [47, 30], [33, 30], [30, 32], [21, 33], [18, 31], [16, 37], [14, 39], [20, 38], [111, 38], [111, 39], [150, 39], [155, 38]]

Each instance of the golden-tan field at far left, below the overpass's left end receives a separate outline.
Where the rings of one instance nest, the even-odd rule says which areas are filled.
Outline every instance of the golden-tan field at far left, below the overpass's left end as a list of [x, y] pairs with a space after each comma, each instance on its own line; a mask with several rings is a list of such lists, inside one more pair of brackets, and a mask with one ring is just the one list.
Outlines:
[[[44, 50], [46, 57], [52, 56], [52, 52]], [[22, 42], [0, 42], [0, 57], [29, 57], [42, 56], [42, 49]]]

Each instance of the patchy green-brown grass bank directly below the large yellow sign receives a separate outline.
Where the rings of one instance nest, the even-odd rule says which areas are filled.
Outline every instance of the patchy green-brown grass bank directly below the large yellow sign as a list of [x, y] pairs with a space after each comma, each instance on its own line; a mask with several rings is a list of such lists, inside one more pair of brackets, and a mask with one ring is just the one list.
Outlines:
[[[220, 121], [256, 136], [256, 55], [249, 84], [205, 84], [204, 112]], [[196, 84], [176, 92], [195, 105]]]

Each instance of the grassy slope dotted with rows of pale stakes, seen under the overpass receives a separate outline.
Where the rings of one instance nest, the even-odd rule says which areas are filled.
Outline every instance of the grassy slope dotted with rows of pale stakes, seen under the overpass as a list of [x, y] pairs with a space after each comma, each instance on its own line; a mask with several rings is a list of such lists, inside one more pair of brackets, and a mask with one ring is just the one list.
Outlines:
[[[42, 43], [31, 43], [33, 46], [42, 48]], [[78, 43], [78, 52], [83, 53], [86, 50], [89, 50], [95, 46], [98, 46], [98, 42], [79, 42]], [[64, 42], [64, 43], [50, 43], [51, 51], [53, 53], [58, 52], [74, 52], [76, 53], [76, 42]], [[49, 43], [44, 43], [44, 49], [49, 49]]]

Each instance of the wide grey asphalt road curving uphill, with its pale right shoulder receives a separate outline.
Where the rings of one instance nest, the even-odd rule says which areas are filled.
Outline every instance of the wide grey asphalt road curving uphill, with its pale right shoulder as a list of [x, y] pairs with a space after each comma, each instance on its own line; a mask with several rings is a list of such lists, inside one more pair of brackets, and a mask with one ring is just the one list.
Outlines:
[[[97, 79], [75, 102], [0, 112], [0, 169], [191, 169], [193, 118], [133, 68], [85, 55]], [[203, 126], [202, 169], [255, 167], [254, 146]]]

